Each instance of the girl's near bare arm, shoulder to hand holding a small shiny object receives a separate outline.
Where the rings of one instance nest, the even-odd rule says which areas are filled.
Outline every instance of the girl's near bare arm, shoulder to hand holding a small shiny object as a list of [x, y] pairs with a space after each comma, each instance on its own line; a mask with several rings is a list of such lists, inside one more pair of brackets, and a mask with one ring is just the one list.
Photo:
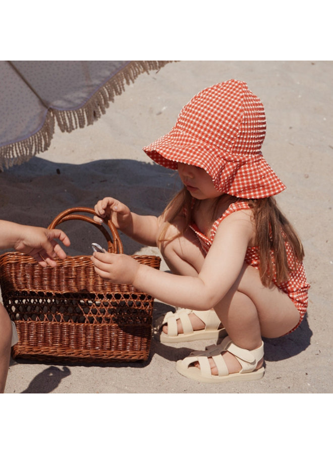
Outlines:
[[229, 215], [218, 226], [198, 277], [164, 273], [126, 255], [94, 253], [92, 261], [102, 278], [132, 284], [173, 306], [207, 310], [227, 294], [240, 275], [253, 232], [248, 214]]

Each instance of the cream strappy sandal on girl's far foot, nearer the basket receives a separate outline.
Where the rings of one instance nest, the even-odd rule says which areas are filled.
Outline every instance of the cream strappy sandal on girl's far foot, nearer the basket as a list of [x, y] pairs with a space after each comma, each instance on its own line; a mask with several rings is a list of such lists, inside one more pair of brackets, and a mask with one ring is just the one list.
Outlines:
[[[190, 313], [194, 313], [205, 323], [203, 329], [194, 330], [189, 318]], [[184, 333], [178, 333], [177, 320], [182, 322]], [[161, 327], [168, 324], [168, 334], [161, 331]], [[164, 317], [157, 320], [155, 335], [159, 335], [162, 344], [176, 344], [179, 342], [198, 341], [200, 339], [212, 339], [217, 342], [227, 335], [225, 328], [219, 328], [221, 324], [214, 310], [192, 311], [191, 309], [178, 309], [176, 312], [167, 312]]]

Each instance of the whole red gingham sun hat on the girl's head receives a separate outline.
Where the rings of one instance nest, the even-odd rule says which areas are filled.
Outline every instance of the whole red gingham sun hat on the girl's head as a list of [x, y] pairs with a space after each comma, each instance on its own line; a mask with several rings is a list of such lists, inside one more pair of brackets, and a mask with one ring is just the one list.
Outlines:
[[286, 189], [262, 156], [265, 132], [260, 99], [245, 82], [229, 80], [195, 95], [174, 128], [143, 150], [164, 167], [204, 168], [218, 191], [261, 199]]

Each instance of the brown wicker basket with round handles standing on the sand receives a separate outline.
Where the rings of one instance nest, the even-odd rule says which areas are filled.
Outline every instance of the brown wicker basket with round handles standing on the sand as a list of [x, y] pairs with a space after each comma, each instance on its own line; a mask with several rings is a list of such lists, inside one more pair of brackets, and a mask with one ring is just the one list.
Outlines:
[[[70, 208], [48, 226], [81, 219], [97, 226], [108, 251], [122, 253], [112, 222], [108, 228], [89, 216], [72, 214], [90, 208]], [[157, 256], [133, 256], [159, 268]], [[110, 362], [146, 360], [149, 355], [153, 298], [132, 286], [101, 279], [89, 256], [57, 259], [55, 268], [42, 268], [30, 256], [7, 252], [0, 257], [0, 286], [4, 306], [15, 322], [19, 342], [14, 358], [37, 361]]]

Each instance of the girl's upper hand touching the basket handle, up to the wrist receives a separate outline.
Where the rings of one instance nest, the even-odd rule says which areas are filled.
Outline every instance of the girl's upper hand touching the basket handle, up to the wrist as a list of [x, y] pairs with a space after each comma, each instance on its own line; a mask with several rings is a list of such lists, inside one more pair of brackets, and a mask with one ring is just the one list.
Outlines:
[[95, 207], [98, 216], [94, 216], [94, 221], [103, 222], [103, 219], [111, 219], [117, 229], [123, 230], [131, 223], [131, 210], [124, 203], [112, 197], [105, 197], [99, 200]]

